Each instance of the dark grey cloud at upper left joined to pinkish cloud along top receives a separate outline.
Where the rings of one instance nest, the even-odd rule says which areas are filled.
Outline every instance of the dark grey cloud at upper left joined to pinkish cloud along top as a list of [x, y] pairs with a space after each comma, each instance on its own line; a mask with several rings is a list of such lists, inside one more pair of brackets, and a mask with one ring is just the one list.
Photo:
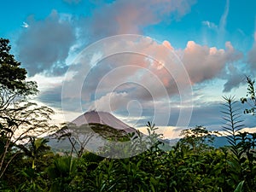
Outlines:
[[70, 50], [75, 53], [81, 44], [84, 46], [111, 35], [142, 33], [144, 26], [157, 24], [166, 16], [179, 18], [187, 14], [193, 3], [195, 0], [120, 0], [102, 3], [86, 18], [59, 14], [55, 10], [44, 20], [30, 16], [17, 40], [19, 60], [30, 76], [36, 73], [61, 75], [67, 71]]

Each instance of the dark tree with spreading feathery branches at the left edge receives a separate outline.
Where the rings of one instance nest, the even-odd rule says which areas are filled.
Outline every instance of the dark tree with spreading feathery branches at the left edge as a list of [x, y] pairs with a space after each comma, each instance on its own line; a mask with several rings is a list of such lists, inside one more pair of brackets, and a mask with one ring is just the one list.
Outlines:
[[38, 137], [56, 126], [49, 125], [47, 107], [28, 102], [38, 93], [36, 82], [26, 81], [26, 69], [9, 53], [9, 40], [0, 38], [0, 178], [28, 136]]

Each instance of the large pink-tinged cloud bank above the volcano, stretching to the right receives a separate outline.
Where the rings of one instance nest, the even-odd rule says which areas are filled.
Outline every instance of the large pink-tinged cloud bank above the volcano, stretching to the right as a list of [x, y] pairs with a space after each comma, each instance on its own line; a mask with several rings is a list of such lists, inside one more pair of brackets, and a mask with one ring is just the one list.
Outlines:
[[[88, 89], [83, 90], [83, 96], [97, 96], [98, 105], [103, 106], [100, 108], [107, 108], [104, 105], [109, 103], [106, 99], [110, 97], [117, 101], [113, 107], [115, 109], [121, 106], [118, 103], [130, 99], [143, 102], [152, 101], [153, 98], [155, 101], [168, 99], [184, 93], [193, 84], [223, 78], [220, 75], [224, 74], [226, 65], [242, 57], [230, 42], [225, 44], [225, 49], [196, 44], [194, 41], [189, 41], [185, 49], [174, 49], [168, 41], [158, 44], [151, 38], [136, 37], [108, 38], [108, 44], [102, 43], [98, 47], [102, 61], [90, 70], [84, 82], [88, 84]], [[82, 67], [86, 67], [87, 63], [81, 63]], [[79, 71], [74, 81], [84, 80], [82, 67], [77, 66]], [[226, 89], [232, 85], [227, 84]], [[124, 92], [125, 95], [120, 94]]]

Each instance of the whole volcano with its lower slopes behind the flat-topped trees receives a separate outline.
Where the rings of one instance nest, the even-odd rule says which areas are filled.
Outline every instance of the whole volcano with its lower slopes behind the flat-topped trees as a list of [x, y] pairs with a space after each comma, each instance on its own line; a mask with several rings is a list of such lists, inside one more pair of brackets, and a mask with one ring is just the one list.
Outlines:
[[[71, 123], [68, 123], [67, 126], [57, 131], [54, 135], [58, 135], [61, 132], [65, 133], [66, 130], [71, 131], [73, 137], [79, 142], [76, 145], [77, 148], [80, 148], [79, 146], [82, 143], [86, 143], [86, 146], [83, 147], [94, 152], [98, 151], [109, 141], [128, 141], [130, 140], [130, 137], [128, 137], [129, 133], [137, 132], [135, 128], [125, 124], [114, 117], [113, 114], [102, 111], [86, 112], [74, 119]], [[54, 151], [70, 149], [70, 143], [67, 138], [59, 141], [51, 137], [49, 146]]]

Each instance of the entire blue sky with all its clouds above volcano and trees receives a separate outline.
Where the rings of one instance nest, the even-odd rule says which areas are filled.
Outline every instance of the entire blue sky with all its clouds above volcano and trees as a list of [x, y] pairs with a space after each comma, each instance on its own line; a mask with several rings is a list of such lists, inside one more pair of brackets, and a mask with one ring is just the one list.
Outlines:
[[[38, 82], [34, 99], [55, 109], [55, 122], [96, 109], [136, 127], [221, 130], [222, 96], [246, 96], [245, 75], [256, 72], [254, 0], [1, 4], [0, 37]], [[246, 106], [237, 107], [242, 114]]]

